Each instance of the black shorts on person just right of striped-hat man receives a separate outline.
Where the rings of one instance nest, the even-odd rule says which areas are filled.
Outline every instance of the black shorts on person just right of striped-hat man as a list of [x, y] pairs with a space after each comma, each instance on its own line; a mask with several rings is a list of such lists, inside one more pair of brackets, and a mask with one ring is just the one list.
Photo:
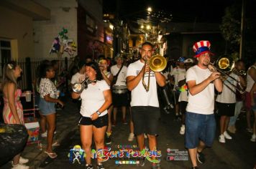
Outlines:
[[218, 107], [218, 115], [234, 116], [234, 107], [236, 103], [222, 103], [216, 102]]

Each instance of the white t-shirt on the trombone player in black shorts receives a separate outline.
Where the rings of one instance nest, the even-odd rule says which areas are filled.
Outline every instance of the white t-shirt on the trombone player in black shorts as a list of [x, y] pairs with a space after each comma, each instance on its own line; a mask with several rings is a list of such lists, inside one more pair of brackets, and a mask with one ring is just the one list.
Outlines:
[[[127, 77], [134, 76], [140, 73], [144, 63], [137, 60], [136, 62], [129, 64], [127, 69]], [[144, 75], [144, 81], [147, 84], [148, 72]], [[157, 82], [155, 79], [154, 72], [150, 72], [150, 90], [146, 92], [142, 84], [142, 79], [140, 79], [139, 84], [132, 90], [132, 101], [131, 106], [152, 106], [159, 107], [159, 102], [157, 98]]]

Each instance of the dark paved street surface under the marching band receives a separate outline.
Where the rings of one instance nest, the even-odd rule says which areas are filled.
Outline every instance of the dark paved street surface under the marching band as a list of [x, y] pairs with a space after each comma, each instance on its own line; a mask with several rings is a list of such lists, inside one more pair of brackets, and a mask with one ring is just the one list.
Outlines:
[[[71, 100], [66, 99], [64, 110], [58, 110], [57, 119], [57, 134], [55, 139], [60, 141], [60, 147], [55, 149], [58, 158], [52, 160], [47, 158], [43, 151], [39, 150], [37, 144], [27, 145], [22, 155], [29, 158], [30, 168], [84, 168], [84, 165], [78, 163], [70, 164], [68, 161], [68, 153], [74, 145], [81, 145], [80, 135], [78, 130], [78, 110], [76, 105]], [[121, 113], [118, 114], [121, 118]], [[129, 119], [129, 116], [127, 117]], [[218, 116], [216, 116], [218, 122]], [[136, 146], [136, 140], [128, 142], [129, 125], [123, 125], [121, 120], [113, 127], [111, 150], [117, 150], [118, 146]], [[227, 140], [227, 143], [219, 143], [217, 135], [219, 135], [219, 126], [217, 125], [216, 138], [213, 148], [204, 150], [206, 155], [206, 163], [199, 165], [200, 168], [253, 168], [256, 163], [256, 146], [250, 142], [251, 133], [245, 130], [245, 117], [241, 115], [237, 121], [237, 133], [232, 135], [232, 140]], [[159, 135], [157, 137], [158, 149], [161, 150], [162, 168], [191, 168], [191, 162], [186, 155], [184, 148], [184, 136], [179, 134], [180, 121], [174, 120], [174, 114], [161, 113]], [[40, 139], [45, 147], [45, 139]], [[146, 140], [147, 141], [147, 140]], [[43, 147], [43, 148], [44, 148]], [[94, 148], [94, 145], [93, 145]], [[181, 160], [166, 160], [170, 148], [170, 153], [183, 153]], [[177, 152], [176, 152], [177, 153]], [[119, 159], [121, 160], [121, 159]], [[116, 165], [116, 160], [107, 160], [104, 163], [106, 168], [150, 168], [149, 161], [146, 160], [144, 167], [139, 167], [136, 164]], [[96, 160], [93, 160], [93, 165], [96, 165]], [[10, 168], [11, 164], [7, 163], [1, 168]]]

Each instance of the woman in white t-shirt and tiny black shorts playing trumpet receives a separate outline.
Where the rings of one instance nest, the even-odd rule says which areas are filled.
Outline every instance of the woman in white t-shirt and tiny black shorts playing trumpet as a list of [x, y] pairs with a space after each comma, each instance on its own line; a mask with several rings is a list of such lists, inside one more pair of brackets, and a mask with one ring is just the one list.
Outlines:
[[[104, 135], [108, 125], [107, 108], [111, 105], [111, 91], [109, 85], [103, 79], [99, 64], [96, 62], [86, 63], [86, 77], [90, 83], [81, 93], [72, 92], [72, 98], [81, 97], [82, 105], [79, 120], [81, 143], [86, 153], [86, 168], [93, 168], [91, 164], [92, 137], [96, 150], [104, 148]], [[98, 159], [97, 168], [103, 168]]]

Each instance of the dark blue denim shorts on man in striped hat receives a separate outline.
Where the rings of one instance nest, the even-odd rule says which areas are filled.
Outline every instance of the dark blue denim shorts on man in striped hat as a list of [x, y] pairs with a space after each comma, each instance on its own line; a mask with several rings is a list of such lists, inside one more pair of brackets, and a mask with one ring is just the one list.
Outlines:
[[186, 112], [185, 147], [188, 149], [196, 148], [199, 140], [211, 147], [214, 143], [215, 130], [214, 114], [202, 115]]

